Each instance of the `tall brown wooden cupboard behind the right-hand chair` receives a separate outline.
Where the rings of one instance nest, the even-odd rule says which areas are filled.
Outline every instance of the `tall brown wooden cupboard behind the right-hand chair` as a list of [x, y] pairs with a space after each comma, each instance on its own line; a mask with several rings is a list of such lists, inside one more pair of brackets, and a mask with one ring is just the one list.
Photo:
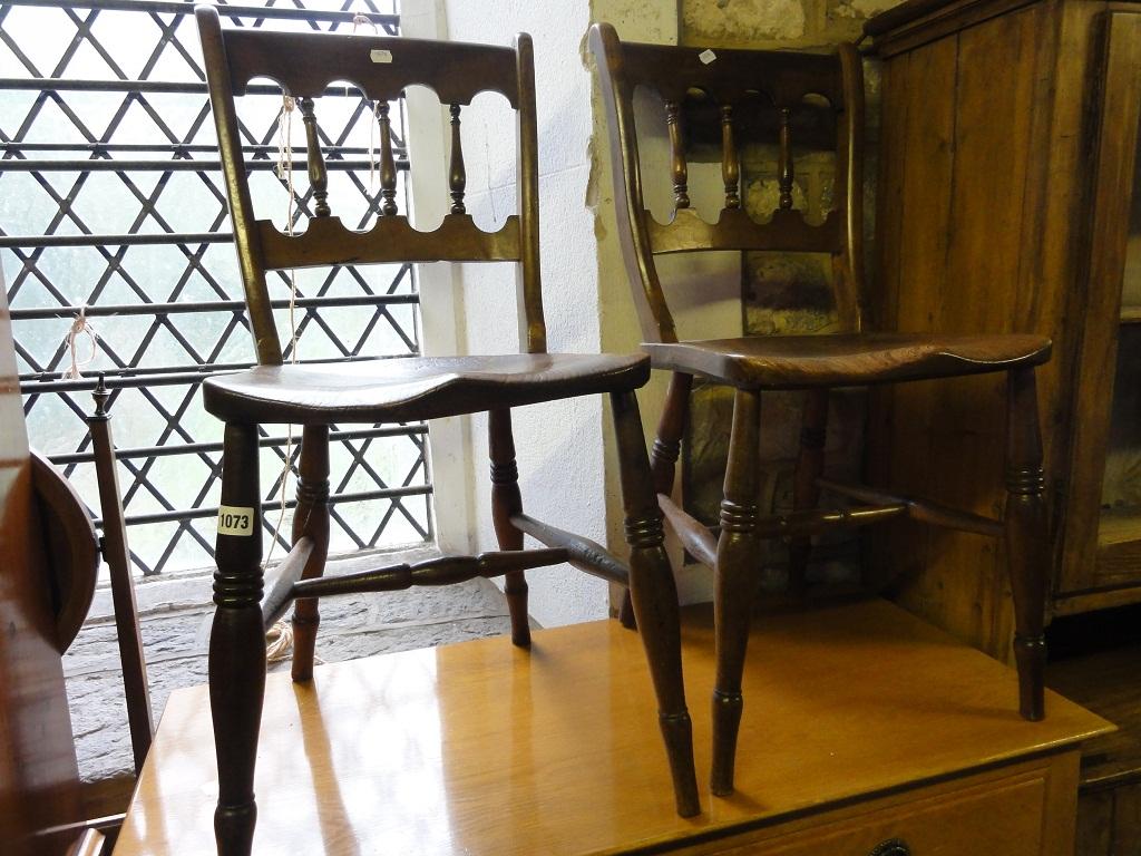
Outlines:
[[[883, 71], [869, 326], [1053, 339], [1050, 612], [1141, 601], [1141, 5], [909, 0], [866, 30]], [[997, 379], [876, 391], [869, 468], [995, 514], [1004, 431]], [[896, 526], [869, 556], [901, 603], [1009, 657], [993, 542]]]

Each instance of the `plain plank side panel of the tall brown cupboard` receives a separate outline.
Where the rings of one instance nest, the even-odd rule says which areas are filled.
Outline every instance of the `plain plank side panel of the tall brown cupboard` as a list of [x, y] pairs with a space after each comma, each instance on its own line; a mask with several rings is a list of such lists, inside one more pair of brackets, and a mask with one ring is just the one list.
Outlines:
[[[936, 17], [949, 26], [952, 10], [971, 8], [947, 3]], [[1055, 358], [1038, 379], [1051, 427], [1065, 421], [1057, 354], [1066, 337], [1055, 320], [1067, 297], [1044, 284], [1035, 261], [1055, 241], [1068, 245], [1060, 234], [1047, 240], [1043, 227], [1054, 192], [1045, 178], [1057, 136], [1057, 5], [1036, 2], [949, 31], [924, 24], [938, 34], [915, 43], [876, 38], [884, 58], [882, 153], [868, 306], [875, 330], [1050, 336]], [[1001, 514], [1004, 388], [994, 374], [873, 390], [872, 481]], [[1047, 461], [1055, 436], [1045, 431]], [[908, 608], [985, 651], [1009, 655], [1010, 589], [994, 539], [904, 523], [869, 530], [867, 543], [873, 586], [888, 586]]]

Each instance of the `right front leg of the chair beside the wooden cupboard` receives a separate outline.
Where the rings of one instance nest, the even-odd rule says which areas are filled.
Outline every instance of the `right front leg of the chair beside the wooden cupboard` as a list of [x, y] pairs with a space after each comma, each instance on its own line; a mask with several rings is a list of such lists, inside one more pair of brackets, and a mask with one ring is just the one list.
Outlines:
[[1017, 369], [1008, 378], [1005, 527], [1014, 598], [1014, 659], [1019, 711], [1025, 719], [1037, 720], [1045, 716], [1043, 625], [1050, 570], [1045, 475], [1034, 369]]

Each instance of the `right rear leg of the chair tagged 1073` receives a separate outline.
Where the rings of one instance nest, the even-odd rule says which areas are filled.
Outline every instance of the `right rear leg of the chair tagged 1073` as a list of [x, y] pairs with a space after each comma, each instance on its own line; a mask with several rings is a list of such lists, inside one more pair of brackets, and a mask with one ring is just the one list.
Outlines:
[[[492, 523], [501, 550], [521, 550], [523, 533], [511, 524], [511, 516], [523, 512], [519, 493], [519, 468], [515, 462], [515, 437], [511, 433], [511, 411], [493, 410], [487, 413], [487, 443], [492, 459]], [[504, 575], [503, 593], [511, 613], [511, 643], [519, 647], [531, 645], [531, 622], [527, 617], [527, 578], [523, 571]]]

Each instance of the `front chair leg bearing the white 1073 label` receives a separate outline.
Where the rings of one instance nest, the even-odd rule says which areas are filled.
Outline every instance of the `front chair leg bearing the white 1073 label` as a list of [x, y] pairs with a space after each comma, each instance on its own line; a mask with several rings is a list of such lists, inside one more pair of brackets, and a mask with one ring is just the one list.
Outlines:
[[220, 856], [245, 856], [258, 809], [253, 765], [266, 686], [261, 622], [261, 502], [258, 430], [227, 425], [210, 631], [210, 712], [218, 756], [215, 835]]

